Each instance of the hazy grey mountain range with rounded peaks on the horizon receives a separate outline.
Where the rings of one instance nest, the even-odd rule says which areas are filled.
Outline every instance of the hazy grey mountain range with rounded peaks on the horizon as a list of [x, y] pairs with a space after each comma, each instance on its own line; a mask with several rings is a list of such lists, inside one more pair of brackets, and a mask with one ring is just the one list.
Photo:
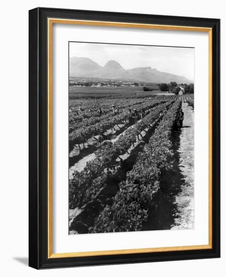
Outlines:
[[183, 76], [157, 71], [155, 68], [136, 67], [125, 70], [116, 60], [109, 60], [104, 66], [86, 57], [71, 57], [70, 77], [127, 80], [151, 83], [192, 83]]

